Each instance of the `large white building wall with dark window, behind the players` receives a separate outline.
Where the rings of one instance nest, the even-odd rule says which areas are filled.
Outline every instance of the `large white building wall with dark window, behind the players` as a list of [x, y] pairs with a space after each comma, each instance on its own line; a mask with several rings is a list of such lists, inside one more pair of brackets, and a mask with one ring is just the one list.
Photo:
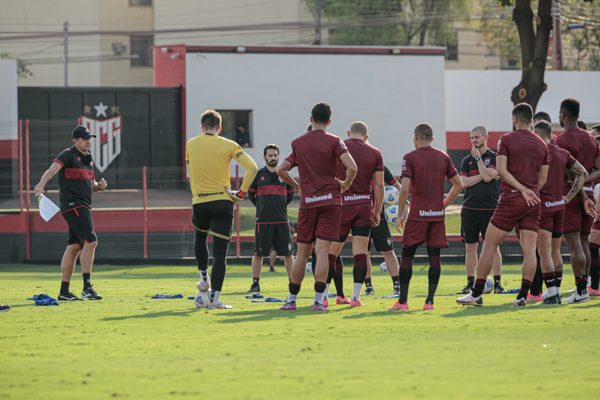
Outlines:
[[187, 54], [187, 139], [202, 133], [206, 109], [253, 110], [259, 164], [268, 143], [282, 157], [310, 124], [310, 110], [326, 101], [333, 109], [328, 131], [346, 139], [354, 121], [369, 128], [369, 142], [386, 163], [414, 149], [415, 126], [433, 126], [434, 146], [446, 149], [443, 56]]

